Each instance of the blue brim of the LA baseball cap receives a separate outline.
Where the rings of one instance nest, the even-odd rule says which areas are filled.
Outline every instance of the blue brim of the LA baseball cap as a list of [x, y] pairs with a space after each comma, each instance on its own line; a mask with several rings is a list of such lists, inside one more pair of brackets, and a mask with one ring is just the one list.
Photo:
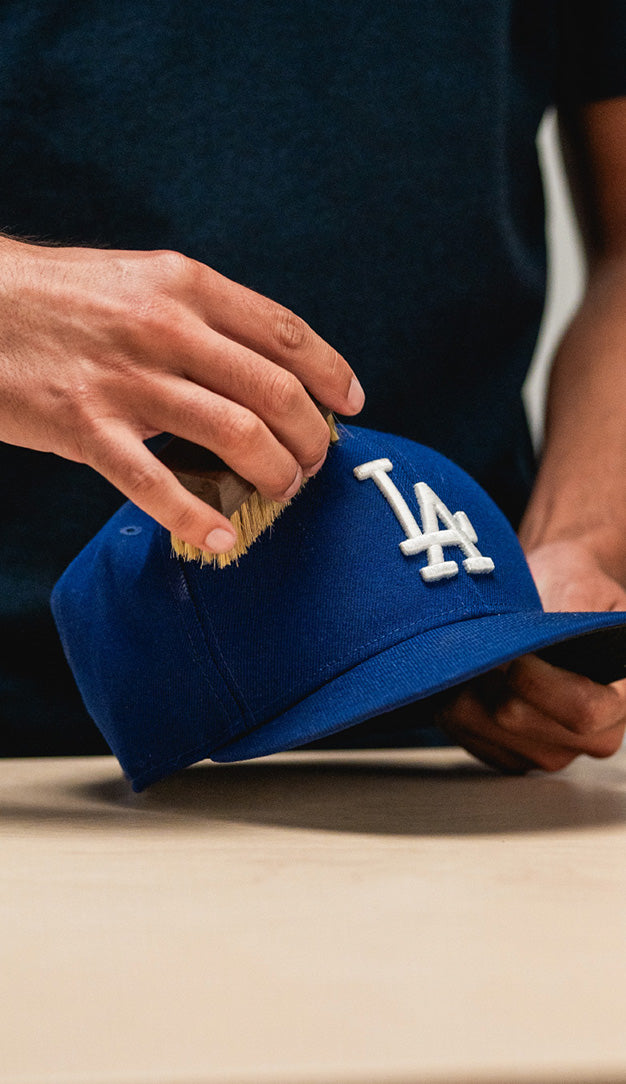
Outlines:
[[248, 760], [295, 749], [531, 651], [593, 681], [618, 681], [626, 678], [626, 612], [498, 614], [430, 629], [338, 674], [210, 758]]

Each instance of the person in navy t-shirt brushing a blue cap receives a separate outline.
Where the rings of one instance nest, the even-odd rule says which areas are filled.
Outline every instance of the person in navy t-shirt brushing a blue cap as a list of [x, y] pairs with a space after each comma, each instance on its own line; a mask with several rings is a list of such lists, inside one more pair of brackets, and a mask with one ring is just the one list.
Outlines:
[[[14, 0], [0, 87], [0, 754], [104, 748], [49, 595], [123, 495], [231, 545], [153, 439], [286, 499], [327, 452], [311, 396], [474, 475], [546, 608], [626, 609], [623, 0]], [[552, 107], [588, 278], [537, 465]], [[438, 722], [555, 770], [619, 746], [626, 691], [531, 656]]]

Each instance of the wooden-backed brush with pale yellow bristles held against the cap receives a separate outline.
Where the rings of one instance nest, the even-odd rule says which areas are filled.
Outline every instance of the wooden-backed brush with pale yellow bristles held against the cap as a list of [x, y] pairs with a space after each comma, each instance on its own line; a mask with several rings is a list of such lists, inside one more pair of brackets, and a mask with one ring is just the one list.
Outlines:
[[[333, 414], [321, 406], [320, 410], [328, 422], [331, 443], [334, 443], [338, 440], [338, 433]], [[237, 531], [237, 543], [232, 550], [216, 554], [206, 553], [171, 534], [171, 549], [183, 560], [199, 560], [201, 565], [226, 568], [239, 560], [259, 534], [271, 527], [281, 512], [291, 504], [291, 501], [272, 501], [261, 496], [250, 481], [231, 470], [215, 452], [182, 437], [173, 437], [161, 450], [158, 457], [190, 493], [230, 519]], [[303, 486], [305, 483], [306, 478]]]

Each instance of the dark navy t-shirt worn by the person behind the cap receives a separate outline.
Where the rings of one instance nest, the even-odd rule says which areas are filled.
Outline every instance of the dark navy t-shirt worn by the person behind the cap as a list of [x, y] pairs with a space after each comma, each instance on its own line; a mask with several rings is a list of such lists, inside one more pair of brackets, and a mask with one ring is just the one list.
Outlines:
[[[626, 93], [623, 0], [84, 0], [0, 8], [0, 225], [180, 249], [350, 362], [359, 421], [515, 522], [546, 285], [545, 109]], [[102, 748], [48, 609], [120, 503], [0, 447], [0, 753]]]

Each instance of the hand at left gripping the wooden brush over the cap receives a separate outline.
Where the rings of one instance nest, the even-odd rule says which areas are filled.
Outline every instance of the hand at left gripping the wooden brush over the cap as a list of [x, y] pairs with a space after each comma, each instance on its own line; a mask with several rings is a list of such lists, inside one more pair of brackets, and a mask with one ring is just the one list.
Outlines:
[[0, 441], [88, 464], [199, 550], [230, 550], [232, 525], [149, 437], [210, 449], [280, 504], [328, 449], [312, 398], [362, 406], [349, 365], [308, 324], [180, 253], [1, 237], [0, 278]]

